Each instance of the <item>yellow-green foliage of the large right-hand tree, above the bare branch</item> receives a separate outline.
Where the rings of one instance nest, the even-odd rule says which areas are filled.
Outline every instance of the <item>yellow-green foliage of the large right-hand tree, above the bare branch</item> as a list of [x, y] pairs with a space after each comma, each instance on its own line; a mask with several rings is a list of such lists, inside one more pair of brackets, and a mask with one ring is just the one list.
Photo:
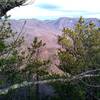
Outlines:
[[100, 66], [100, 29], [93, 22], [86, 25], [81, 17], [73, 30], [64, 28], [63, 32], [58, 38], [62, 46], [58, 56], [63, 71], [77, 74]]

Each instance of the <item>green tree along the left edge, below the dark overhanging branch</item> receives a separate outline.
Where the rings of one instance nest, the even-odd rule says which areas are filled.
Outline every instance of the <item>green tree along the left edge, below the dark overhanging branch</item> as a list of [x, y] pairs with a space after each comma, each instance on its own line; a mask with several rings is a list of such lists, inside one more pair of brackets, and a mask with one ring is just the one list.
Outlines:
[[18, 35], [11, 29], [11, 24], [7, 19], [8, 16], [5, 16], [0, 26], [0, 75], [5, 84], [14, 84], [21, 75], [19, 68], [23, 65], [23, 57], [19, 50], [24, 37], [21, 36], [22, 33]]

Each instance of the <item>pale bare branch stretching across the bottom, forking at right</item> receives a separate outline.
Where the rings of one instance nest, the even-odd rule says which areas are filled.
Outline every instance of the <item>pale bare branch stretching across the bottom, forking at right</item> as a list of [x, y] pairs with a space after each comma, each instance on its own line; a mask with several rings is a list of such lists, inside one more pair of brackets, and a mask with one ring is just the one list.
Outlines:
[[84, 81], [82, 81], [83, 78], [100, 76], [100, 75], [89, 74], [89, 73], [96, 72], [96, 71], [100, 71], [100, 69], [89, 70], [89, 71], [83, 72], [79, 75], [69, 77], [69, 78], [48, 79], [48, 80], [41, 80], [41, 81], [34, 81], [34, 82], [24, 81], [20, 84], [14, 84], [14, 85], [12, 85], [8, 88], [1, 89], [0, 94], [6, 94], [6, 93], [8, 93], [9, 90], [14, 90], [14, 89], [29, 86], [29, 85], [32, 85], [32, 84], [36, 85], [36, 84], [47, 84], [47, 83], [54, 83], [54, 82], [72, 82], [72, 81], [75, 81], [75, 80], [81, 81], [82, 83], [84, 83], [88, 87], [100, 88], [100, 85], [89, 85], [89, 84], [85, 83]]

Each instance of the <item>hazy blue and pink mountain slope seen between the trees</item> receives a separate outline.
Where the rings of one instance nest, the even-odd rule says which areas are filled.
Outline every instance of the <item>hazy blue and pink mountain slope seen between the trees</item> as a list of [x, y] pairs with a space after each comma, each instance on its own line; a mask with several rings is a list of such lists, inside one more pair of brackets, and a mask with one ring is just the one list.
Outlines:
[[[90, 18], [85, 19], [86, 24], [93, 21], [96, 26], [100, 27], [99, 19]], [[20, 32], [25, 20], [11, 20], [12, 29]], [[73, 28], [78, 22], [78, 18], [59, 18], [57, 20], [37, 20], [27, 19], [23, 33], [26, 40], [26, 45], [29, 45], [34, 37], [38, 37], [46, 43], [45, 48], [41, 51], [41, 57], [45, 59], [51, 59], [53, 67], [50, 67], [51, 71], [59, 72], [59, 69], [55, 66], [59, 61], [55, 57], [57, 48], [60, 46], [57, 44], [57, 36], [62, 34], [63, 27]], [[61, 71], [60, 71], [61, 72]]]

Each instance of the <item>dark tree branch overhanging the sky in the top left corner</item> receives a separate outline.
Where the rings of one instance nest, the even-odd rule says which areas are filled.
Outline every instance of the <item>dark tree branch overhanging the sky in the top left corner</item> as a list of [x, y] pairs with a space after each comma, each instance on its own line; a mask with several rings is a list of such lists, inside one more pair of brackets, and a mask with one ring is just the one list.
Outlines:
[[31, 4], [34, 1], [35, 0], [0, 0], [0, 17], [4, 16], [10, 9]]

